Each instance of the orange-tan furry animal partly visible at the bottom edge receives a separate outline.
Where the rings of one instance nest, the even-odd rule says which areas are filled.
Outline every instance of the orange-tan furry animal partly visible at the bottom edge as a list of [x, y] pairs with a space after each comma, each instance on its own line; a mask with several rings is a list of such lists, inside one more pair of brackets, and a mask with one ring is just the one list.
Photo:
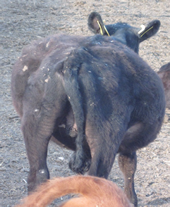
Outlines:
[[16, 207], [45, 207], [56, 198], [68, 194], [79, 194], [81, 197], [73, 197], [62, 207], [131, 206], [122, 190], [111, 181], [93, 176], [71, 176], [48, 180]]

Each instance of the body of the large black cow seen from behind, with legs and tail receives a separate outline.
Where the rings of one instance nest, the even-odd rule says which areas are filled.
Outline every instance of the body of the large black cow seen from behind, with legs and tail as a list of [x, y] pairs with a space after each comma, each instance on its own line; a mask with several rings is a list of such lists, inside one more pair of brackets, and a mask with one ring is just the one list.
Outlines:
[[75, 151], [69, 166], [77, 173], [107, 178], [119, 153], [125, 193], [137, 206], [136, 150], [156, 138], [165, 100], [158, 75], [119, 35], [35, 41], [14, 65], [11, 89], [30, 164], [28, 191], [49, 178], [53, 139]]

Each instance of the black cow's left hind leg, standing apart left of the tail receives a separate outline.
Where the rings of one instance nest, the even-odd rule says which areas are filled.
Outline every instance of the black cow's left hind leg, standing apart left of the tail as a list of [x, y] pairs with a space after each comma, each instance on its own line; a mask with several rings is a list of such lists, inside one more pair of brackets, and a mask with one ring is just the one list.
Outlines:
[[35, 119], [32, 114], [22, 118], [22, 132], [30, 165], [28, 192], [49, 178], [47, 148], [52, 134], [53, 123], [47, 117]]

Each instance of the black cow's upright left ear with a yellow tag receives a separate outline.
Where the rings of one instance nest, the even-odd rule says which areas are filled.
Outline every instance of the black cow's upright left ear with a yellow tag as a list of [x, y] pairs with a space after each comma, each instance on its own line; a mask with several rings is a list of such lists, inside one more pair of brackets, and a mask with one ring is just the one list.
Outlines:
[[92, 12], [88, 18], [88, 27], [95, 34], [104, 35], [105, 26], [99, 13]]

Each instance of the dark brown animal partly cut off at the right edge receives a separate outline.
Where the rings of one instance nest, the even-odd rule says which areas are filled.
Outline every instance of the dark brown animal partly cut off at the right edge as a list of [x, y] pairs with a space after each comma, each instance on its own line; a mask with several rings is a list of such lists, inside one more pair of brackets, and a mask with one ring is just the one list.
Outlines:
[[165, 91], [166, 107], [170, 109], [170, 63], [163, 65], [158, 71]]

